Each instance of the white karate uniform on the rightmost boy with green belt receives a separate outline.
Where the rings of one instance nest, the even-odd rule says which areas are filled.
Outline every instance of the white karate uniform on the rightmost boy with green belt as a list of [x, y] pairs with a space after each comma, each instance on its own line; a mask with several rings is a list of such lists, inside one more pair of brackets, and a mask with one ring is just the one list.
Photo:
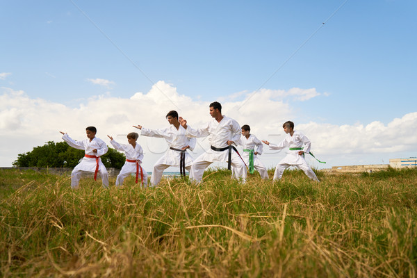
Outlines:
[[309, 154], [310, 153], [310, 147], [311, 142], [309, 138], [304, 136], [301, 132], [294, 131], [293, 136], [290, 135], [290, 133], [287, 133], [286, 138], [282, 140], [282, 142], [279, 143], [279, 145], [270, 144], [270, 149], [284, 149], [288, 148], [287, 155], [279, 161], [277, 167], [275, 168], [274, 173], [274, 181], [277, 179], [281, 179], [282, 173], [284, 173], [284, 170], [290, 166], [295, 166], [298, 169], [301, 169], [304, 171], [304, 173], [309, 177], [310, 179], [313, 179], [314, 181], [318, 181], [316, 174], [314, 174], [313, 170], [311, 170], [311, 167], [306, 163], [306, 160], [304, 159], [304, 156], [300, 156], [298, 152], [300, 150], [291, 151], [289, 148], [295, 148], [295, 147], [302, 147], [304, 144], [304, 153]]

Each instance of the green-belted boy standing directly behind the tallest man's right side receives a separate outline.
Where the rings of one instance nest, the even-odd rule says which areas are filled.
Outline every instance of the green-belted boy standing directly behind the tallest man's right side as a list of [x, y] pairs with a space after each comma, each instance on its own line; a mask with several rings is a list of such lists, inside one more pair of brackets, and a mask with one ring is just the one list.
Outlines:
[[[245, 161], [247, 167], [249, 167], [250, 174], [254, 173], [254, 170], [261, 174], [261, 179], [268, 179], [268, 172], [265, 165], [258, 158], [262, 154], [263, 145], [261, 140], [256, 138], [253, 134], [250, 134], [250, 126], [247, 124], [242, 126], [242, 136], [238, 145], [243, 147], [242, 158]], [[255, 150], [256, 147], [256, 150]]]

